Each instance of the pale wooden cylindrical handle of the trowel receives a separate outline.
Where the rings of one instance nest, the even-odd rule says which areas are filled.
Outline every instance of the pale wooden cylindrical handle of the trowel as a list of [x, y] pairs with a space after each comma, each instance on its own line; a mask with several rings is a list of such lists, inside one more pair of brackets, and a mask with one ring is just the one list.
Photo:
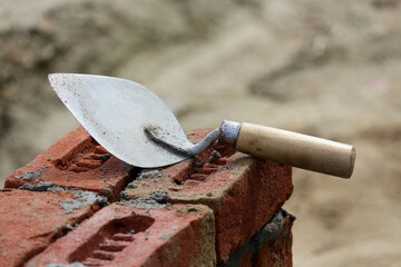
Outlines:
[[353, 146], [271, 127], [242, 123], [235, 148], [257, 158], [350, 178]]

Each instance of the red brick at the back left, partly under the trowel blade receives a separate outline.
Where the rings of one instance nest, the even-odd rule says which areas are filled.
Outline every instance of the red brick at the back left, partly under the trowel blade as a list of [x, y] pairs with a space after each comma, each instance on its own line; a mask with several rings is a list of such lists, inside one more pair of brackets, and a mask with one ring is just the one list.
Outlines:
[[114, 201], [135, 171], [130, 165], [110, 156], [79, 127], [8, 177], [4, 187], [55, 182], [62, 187], [96, 191]]

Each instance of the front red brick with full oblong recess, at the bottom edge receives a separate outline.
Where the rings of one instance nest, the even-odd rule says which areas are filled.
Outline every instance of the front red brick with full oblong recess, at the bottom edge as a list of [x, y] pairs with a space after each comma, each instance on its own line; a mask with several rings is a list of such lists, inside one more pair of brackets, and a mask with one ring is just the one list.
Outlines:
[[110, 205], [27, 266], [215, 266], [213, 211], [203, 205]]

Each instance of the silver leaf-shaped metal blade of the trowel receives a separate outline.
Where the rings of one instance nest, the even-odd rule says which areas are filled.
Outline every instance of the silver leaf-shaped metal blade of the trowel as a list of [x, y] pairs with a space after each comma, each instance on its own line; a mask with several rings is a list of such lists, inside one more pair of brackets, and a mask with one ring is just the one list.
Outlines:
[[144, 127], [154, 125], [189, 142], [169, 108], [144, 86], [120, 78], [76, 73], [52, 73], [49, 81], [95, 140], [123, 161], [154, 168], [188, 158], [155, 144], [145, 134]]

